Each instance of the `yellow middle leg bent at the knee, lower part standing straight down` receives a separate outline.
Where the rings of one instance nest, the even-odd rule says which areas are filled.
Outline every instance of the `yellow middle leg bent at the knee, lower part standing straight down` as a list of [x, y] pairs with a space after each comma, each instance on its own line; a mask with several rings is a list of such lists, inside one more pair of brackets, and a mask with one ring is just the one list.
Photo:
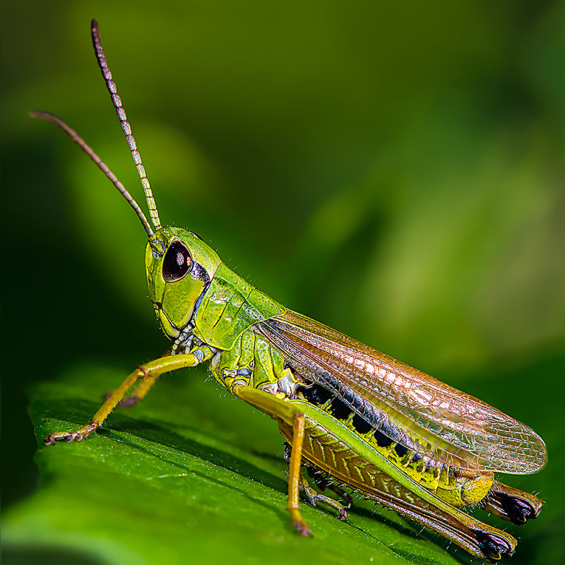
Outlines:
[[312, 535], [310, 528], [299, 510], [299, 490], [300, 490], [300, 462], [302, 460], [302, 444], [304, 442], [304, 424], [306, 419], [304, 414], [297, 410], [290, 403], [281, 398], [277, 398], [270, 393], [258, 391], [244, 385], [236, 385], [232, 393], [238, 398], [242, 398], [247, 403], [263, 410], [271, 417], [283, 420], [292, 426], [292, 453], [288, 465], [288, 504], [290, 518], [300, 535]]

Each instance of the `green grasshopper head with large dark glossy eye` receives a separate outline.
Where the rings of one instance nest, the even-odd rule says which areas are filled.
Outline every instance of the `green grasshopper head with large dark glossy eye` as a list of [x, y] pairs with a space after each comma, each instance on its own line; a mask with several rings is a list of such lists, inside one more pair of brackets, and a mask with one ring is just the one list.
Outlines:
[[201, 295], [222, 261], [196, 234], [161, 227], [145, 248], [149, 297], [171, 339], [189, 323]]

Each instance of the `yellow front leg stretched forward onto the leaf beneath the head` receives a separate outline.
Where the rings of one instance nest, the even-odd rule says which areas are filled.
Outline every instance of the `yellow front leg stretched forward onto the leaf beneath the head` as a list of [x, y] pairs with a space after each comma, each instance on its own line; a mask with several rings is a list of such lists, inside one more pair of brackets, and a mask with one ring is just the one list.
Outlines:
[[[49, 434], [44, 440], [46, 445], [54, 445], [57, 441], [82, 441], [85, 437], [96, 431], [97, 428], [102, 426], [110, 412], [114, 410], [119, 401], [126, 396], [126, 393], [133, 386], [138, 379], [147, 379], [149, 385], [143, 387], [143, 396], [147, 393], [150, 386], [155, 382], [158, 376], [167, 371], [175, 371], [176, 369], [183, 369], [184, 367], [195, 367], [203, 359], [198, 358], [190, 353], [189, 355], [168, 355], [167, 357], [160, 357], [145, 363], [138, 367], [127, 379], [121, 383], [96, 412], [93, 419], [88, 424], [81, 426], [76, 432], [55, 432]], [[143, 398], [143, 397], [142, 397]]]

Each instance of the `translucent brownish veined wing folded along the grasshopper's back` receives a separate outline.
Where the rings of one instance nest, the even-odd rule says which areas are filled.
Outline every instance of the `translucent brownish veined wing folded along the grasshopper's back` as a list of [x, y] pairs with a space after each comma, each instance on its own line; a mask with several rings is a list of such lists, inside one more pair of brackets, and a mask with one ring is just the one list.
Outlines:
[[330, 383], [359, 415], [371, 420], [376, 407], [409, 429], [412, 438], [391, 436], [407, 448], [472, 470], [528, 474], [545, 465], [545, 444], [529, 427], [347, 335], [290, 310], [258, 329], [300, 375]]

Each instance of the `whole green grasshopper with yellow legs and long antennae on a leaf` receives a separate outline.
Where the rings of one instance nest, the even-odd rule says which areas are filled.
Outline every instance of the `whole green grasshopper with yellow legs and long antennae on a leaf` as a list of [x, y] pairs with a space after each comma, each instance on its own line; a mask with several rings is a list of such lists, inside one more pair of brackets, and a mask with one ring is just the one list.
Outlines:
[[[536, 518], [542, 500], [499, 482], [494, 472], [540, 470], [547, 461], [540, 436], [481, 400], [285, 308], [234, 273], [196, 234], [162, 227], [96, 20], [91, 32], [153, 227], [73, 129], [47, 112], [32, 116], [54, 122], [71, 136], [135, 210], [148, 236], [145, 274], [150, 299], [173, 345], [163, 357], [133, 371], [88, 424], [75, 432], [49, 434], [44, 443], [81, 441], [102, 426], [117, 405], [144, 398], [161, 374], [208, 362], [227, 391], [278, 422], [287, 442], [287, 506], [301, 535], [311, 531], [299, 510], [299, 492], [310, 504], [327, 504], [346, 519], [351, 499], [341, 485], [476, 557], [491, 562], [511, 557], [516, 540], [509, 533], [462, 509], [479, 506], [516, 524]], [[316, 483], [330, 487], [343, 504], [310, 487], [302, 475], [303, 464]]]

